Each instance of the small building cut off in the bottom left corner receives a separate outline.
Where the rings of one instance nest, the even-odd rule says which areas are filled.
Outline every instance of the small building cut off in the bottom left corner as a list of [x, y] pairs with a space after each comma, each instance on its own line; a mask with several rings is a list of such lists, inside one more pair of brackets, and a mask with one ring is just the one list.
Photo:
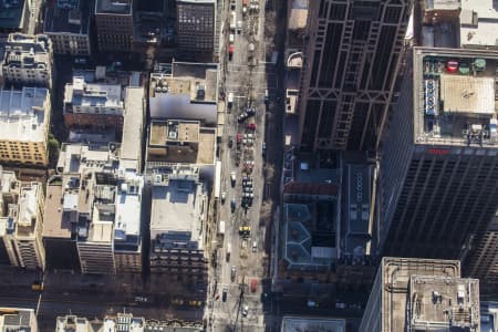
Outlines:
[[38, 332], [33, 309], [0, 308], [0, 331]]

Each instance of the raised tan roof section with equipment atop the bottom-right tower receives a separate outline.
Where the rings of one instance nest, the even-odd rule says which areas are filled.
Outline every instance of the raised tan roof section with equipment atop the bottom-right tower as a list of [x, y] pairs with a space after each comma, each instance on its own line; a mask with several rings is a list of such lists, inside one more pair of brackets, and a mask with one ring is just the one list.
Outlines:
[[480, 331], [478, 279], [412, 276], [407, 299], [415, 331]]

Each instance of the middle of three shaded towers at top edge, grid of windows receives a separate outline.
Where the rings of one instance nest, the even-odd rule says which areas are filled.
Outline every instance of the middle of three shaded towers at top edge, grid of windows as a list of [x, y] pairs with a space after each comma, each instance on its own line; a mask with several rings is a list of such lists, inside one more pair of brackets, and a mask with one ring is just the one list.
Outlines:
[[96, 0], [98, 50], [127, 52], [133, 42], [133, 0]]

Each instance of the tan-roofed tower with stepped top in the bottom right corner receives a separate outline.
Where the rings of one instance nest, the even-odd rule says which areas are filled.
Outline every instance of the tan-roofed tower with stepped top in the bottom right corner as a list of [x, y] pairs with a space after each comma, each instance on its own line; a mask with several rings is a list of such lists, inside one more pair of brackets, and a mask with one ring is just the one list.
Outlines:
[[456, 260], [384, 257], [360, 332], [478, 332], [479, 280]]

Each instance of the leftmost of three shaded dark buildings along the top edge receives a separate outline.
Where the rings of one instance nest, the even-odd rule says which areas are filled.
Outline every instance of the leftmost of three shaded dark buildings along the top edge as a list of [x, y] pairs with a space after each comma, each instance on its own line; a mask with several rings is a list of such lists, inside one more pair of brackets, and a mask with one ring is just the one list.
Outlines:
[[90, 18], [89, 1], [49, 2], [43, 33], [52, 40], [53, 52], [62, 55], [90, 55]]

